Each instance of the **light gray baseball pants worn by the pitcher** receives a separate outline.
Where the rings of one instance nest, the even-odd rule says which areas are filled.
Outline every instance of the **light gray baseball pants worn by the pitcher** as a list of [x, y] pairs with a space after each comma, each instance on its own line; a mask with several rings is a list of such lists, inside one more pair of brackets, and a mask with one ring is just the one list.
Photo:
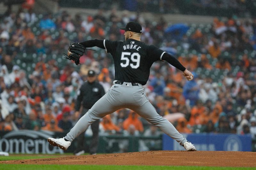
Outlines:
[[175, 129], [172, 123], [157, 114], [155, 107], [152, 106], [144, 94], [144, 88], [141, 84], [138, 83], [138, 86], [132, 86], [132, 83], [124, 82], [123, 85], [119, 85], [115, 84], [115, 81], [109, 91], [70, 130], [65, 137], [67, 140], [72, 142], [90, 124], [105, 115], [111, 114], [121, 108], [128, 108], [145, 118], [148, 122], [156, 125], [180, 145], [183, 145], [187, 141]]

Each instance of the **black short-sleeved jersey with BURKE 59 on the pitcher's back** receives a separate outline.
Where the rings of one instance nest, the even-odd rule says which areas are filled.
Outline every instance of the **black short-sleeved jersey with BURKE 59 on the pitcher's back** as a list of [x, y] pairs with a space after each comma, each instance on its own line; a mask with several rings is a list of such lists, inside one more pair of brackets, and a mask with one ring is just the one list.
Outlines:
[[104, 47], [106, 52], [113, 56], [115, 79], [142, 85], [148, 81], [151, 65], [155, 61], [160, 61], [165, 53], [154, 45], [147, 45], [133, 39], [104, 40]]

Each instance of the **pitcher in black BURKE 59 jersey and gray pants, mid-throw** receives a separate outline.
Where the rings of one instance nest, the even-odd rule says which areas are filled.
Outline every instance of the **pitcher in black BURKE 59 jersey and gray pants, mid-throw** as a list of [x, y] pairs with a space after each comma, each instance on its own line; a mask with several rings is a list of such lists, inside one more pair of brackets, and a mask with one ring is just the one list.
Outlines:
[[192, 80], [193, 74], [172, 55], [154, 45], [141, 42], [142, 28], [138, 22], [128, 22], [126, 27], [120, 29], [125, 30], [125, 41], [95, 39], [70, 44], [66, 57], [69, 60], [74, 60], [77, 65], [86, 48], [96, 46], [110, 53], [115, 64], [115, 81], [108, 92], [79, 119], [65, 137], [60, 139], [48, 138], [47, 141], [53, 146], [66, 150], [71, 142], [94, 121], [118, 109], [129, 108], [175, 139], [186, 151], [196, 151], [193, 144], [188, 142], [168, 120], [156, 112], [142, 87], [147, 83], [150, 67], [155, 61], [167, 61], [181, 70], [187, 80]]

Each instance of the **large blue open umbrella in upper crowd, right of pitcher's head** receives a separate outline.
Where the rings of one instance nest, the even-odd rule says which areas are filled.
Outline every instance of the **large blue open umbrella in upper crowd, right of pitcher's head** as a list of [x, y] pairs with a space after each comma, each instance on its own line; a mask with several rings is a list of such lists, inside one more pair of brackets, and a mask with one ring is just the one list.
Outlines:
[[175, 39], [180, 40], [182, 36], [187, 33], [189, 27], [185, 24], [174, 24], [172, 26], [167, 27], [164, 30], [164, 37], [166, 37], [167, 40]]

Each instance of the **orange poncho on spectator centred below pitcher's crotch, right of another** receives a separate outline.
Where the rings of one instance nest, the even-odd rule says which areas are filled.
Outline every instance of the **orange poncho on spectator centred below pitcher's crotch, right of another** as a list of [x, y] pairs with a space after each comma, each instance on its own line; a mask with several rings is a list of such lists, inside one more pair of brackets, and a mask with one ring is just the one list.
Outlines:
[[123, 127], [124, 130], [127, 130], [129, 126], [132, 124], [136, 130], [143, 132], [144, 128], [142, 122], [139, 120], [139, 115], [137, 113], [131, 111], [129, 117], [124, 120]]

